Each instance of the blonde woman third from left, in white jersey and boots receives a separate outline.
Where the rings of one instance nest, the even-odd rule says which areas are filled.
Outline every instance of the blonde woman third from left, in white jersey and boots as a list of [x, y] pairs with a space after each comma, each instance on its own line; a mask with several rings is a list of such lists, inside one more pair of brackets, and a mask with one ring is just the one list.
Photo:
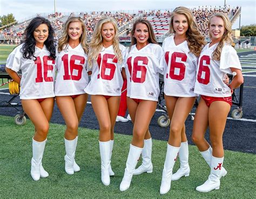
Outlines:
[[101, 179], [105, 186], [109, 186], [110, 176], [114, 175], [110, 162], [126, 53], [126, 48], [119, 44], [116, 21], [109, 17], [99, 19], [90, 42], [88, 68], [92, 76], [85, 92], [91, 95], [99, 122]]

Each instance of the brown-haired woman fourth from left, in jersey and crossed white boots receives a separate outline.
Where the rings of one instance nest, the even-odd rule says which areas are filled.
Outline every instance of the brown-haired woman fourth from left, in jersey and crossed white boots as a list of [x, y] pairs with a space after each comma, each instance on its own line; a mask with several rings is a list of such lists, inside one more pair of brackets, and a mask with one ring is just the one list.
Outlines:
[[[152, 140], [149, 131], [159, 95], [159, 68], [163, 49], [158, 45], [152, 26], [145, 19], [134, 22], [131, 46], [126, 61], [127, 106], [133, 123], [133, 137], [120, 190], [129, 189], [132, 175], [152, 173]], [[134, 171], [142, 154], [143, 163]]]

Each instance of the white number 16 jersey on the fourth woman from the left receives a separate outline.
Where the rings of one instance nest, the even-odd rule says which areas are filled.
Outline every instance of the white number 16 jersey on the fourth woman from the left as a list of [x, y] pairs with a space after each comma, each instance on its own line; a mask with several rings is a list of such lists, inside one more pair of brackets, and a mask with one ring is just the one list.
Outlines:
[[148, 44], [138, 50], [130, 49], [126, 61], [127, 96], [140, 100], [158, 101], [159, 67], [163, 49], [157, 44]]

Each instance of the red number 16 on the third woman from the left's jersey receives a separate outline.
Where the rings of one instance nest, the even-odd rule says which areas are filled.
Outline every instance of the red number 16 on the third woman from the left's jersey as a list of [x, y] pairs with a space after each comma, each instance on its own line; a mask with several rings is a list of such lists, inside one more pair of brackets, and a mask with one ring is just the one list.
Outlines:
[[[109, 59], [112, 60], [113, 63], [108, 62]], [[113, 54], [104, 54], [103, 57], [99, 54], [97, 63], [100, 70], [100, 63], [102, 63], [102, 68], [99, 71], [97, 78], [101, 77], [103, 80], [112, 80], [114, 78], [114, 72], [116, 72], [117, 57]], [[106, 74], [107, 72], [107, 74]]]

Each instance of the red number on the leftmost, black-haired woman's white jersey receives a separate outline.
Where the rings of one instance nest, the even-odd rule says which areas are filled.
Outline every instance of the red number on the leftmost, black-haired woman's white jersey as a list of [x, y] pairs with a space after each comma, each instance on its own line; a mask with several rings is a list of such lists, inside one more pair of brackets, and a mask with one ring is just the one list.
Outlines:
[[[49, 58], [49, 56], [45, 55], [45, 56], [43, 56], [43, 70], [42, 70], [42, 60], [41, 60], [40, 56], [37, 56], [36, 61], [35, 61], [35, 65], [37, 67], [36, 83], [43, 82], [43, 80], [45, 82], [53, 81], [52, 77], [48, 77], [48, 70], [50, 70], [51, 72], [53, 70], [53, 66], [48, 65], [48, 61], [51, 61], [52, 64], [55, 64], [55, 60], [53, 60], [53, 59]], [[44, 76], [43, 76], [43, 74], [44, 74]]]

